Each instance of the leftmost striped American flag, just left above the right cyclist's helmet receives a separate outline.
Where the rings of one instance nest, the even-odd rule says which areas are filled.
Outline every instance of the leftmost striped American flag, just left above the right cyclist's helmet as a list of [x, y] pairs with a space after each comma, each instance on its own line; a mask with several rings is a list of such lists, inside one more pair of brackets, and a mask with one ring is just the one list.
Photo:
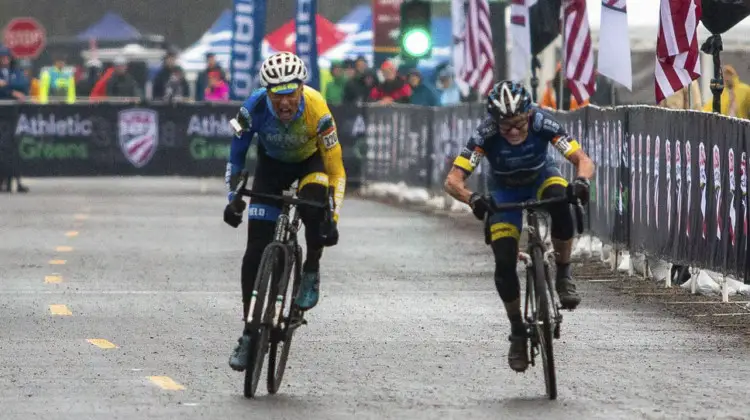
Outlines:
[[[465, 0], [453, 2], [463, 5]], [[456, 63], [456, 68], [459, 79], [476, 89], [480, 95], [486, 95], [492, 89], [495, 79], [490, 5], [488, 0], [468, 0], [466, 3], [468, 13], [463, 37], [463, 56], [461, 62]]]

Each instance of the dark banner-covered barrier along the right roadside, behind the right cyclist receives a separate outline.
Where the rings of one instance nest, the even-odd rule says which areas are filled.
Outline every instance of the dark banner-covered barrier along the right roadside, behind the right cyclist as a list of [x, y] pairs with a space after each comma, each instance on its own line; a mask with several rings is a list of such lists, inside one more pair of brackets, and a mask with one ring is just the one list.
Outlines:
[[[367, 108], [367, 180], [442, 191], [483, 110], [425, 109]], [[632, 251], [744, 277], [750, 122], [654, 107], [586, 107], [555, 115], [597, 167], [589, 231]], [[428, 128], [414, 130], [424, 120], [431, 120]], [[573, 166], [553, 155], [572, 180]], [[486, 175], [470, 178], [470, 188], [483, 191]]]

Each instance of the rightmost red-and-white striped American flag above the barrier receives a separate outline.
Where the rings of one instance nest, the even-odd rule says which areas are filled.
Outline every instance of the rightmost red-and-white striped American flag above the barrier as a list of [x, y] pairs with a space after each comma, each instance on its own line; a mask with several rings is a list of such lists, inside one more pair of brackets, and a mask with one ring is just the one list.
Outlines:
[[700, 77], [700, 18], [700, 0], [661, 0], [654, 72], [657, 103]]

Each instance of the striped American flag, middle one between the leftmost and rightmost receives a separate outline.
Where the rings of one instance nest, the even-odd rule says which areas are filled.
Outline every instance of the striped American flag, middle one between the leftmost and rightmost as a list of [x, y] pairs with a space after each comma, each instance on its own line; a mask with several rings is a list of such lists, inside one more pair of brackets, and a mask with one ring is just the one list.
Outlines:
[[594, 49], [591, 44], [586, 0], [566, 0], [565, 17], [565, 78], [570, 92], [579, 104], [594, 93]]

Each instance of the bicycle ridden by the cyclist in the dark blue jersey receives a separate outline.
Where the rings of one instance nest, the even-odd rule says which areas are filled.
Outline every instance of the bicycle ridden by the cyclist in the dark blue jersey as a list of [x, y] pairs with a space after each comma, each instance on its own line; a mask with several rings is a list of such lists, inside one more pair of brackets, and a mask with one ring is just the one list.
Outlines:
[[[569, 197], [555, 197], [544, 200], [530, 200], [522, 203], [495, 204], [490, 200], [490, 214], [504, 211], [523, 210], [526, 212], [528, 243], [527, 252], [519, 252], [519, 259], [526, 265], [526, 299], [524, 303], [524, 320], [528, 338], [528, 362], [535, 366], [535, 359], [541, 354], [544, 368], [544, 383], [550, 400], [557, 399], [557, 376], [555, 373], [555, 356], [552, 346], [554, 339], [560, 338], [562, 324], [562, 306], [554, 292], [550, 276], [551, 261], [554, 251], [547, 251], [544, 239], [539, 230], [537, 209], [550, 204], [575, 204], [576, 228], [583, 233], [583, 206], [579, 200], [572, 202]], [[489, 216], [485, 216], [485, 243], [491, 244]]]

